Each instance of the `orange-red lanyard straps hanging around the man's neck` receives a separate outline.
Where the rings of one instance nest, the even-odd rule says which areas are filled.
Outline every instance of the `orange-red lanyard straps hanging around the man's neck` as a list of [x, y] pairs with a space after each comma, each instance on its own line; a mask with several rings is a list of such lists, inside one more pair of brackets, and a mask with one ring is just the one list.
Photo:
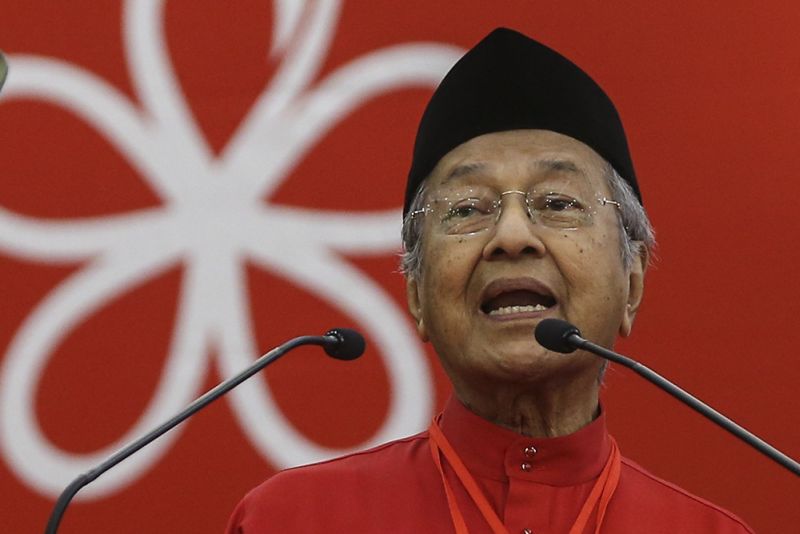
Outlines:
[[[447, 506], [450, 508], [450, 517], [453, 519], [453, 526], [456, 529], [456, 534], [469, 534], [469, 530], [464, 521], [464, 516], [461, 515], [461, 510], [458, 508], [453, 488], [450, 487], [450, 483], [447, 481], [447, 477], [445, 477], [444, 469], [442, 468], [442, 455], [444, 455], [450, 467], [455, 471], [456, 476], [461, 481], [464, 489], [467, 490], [472, 502], [478, 507], [478, 510], [489, 524], [489, 527], [491, 527], [492, 532], [494, 534], [508, 534], [508, 530], [500, 518], [497, 517], [492, 505], [489, 504], [486, 496], [483, 494], [480, 487], [478, 487], [478, 483], [475, 482], [475, 479], [469, 474], [469, 470], [464, 465], [464, 462], [461, 461], [458, 453], [453, 446], [450, 445], [450, 442], [447, 441], [447, 438], [444, 437], [444, 433], [442, 429], [439, 428], [439, 423], [436, 421], [436, 418], [431, 421], [431, 425], [428, 427], [428, 433], [430, 434], [429, 443], [431, 455], [433, 456], [433, 463], [436, 464], [439, 475], [442, 477], [444, 492], [447, 496]], [[578, 513], [575, 523], [572, 525], [572, 528], [569, 529], [569, 534], [583, 534], [589, 522], [589, 517], [592, 515], [595, 507], [597, 508], [597, 522], [594, 532], [595, 534], [600, 532], [600, 525], [603, 523], [606, 508], [608, 508], [608, 503], [611, 501], [611, 497], [614, 495], [614, 491], [617, 489], [617, 484], [619, 483], [621, 466], [617, 442], [614, 441], [614, 438], [610, 439], [611, 454], [609, 454], [603, 471], [594, 483], [592, 491], [589, 492], [586, 502], [583, 503], [583, 508], [581, 508], [581, 511]]]

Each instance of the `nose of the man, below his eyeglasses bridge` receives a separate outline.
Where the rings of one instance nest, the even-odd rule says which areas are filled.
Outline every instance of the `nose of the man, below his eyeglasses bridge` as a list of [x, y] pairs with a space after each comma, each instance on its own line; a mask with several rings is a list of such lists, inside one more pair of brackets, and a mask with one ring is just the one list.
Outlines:
[[500, 201], [500, 215], [492, 230], [491, 239], [483, 249], [484, 259], [543, 256], [546, 248], [539, 236], [541, 226], [531, 219], [525, 203], [525, 193], [507, 191]]

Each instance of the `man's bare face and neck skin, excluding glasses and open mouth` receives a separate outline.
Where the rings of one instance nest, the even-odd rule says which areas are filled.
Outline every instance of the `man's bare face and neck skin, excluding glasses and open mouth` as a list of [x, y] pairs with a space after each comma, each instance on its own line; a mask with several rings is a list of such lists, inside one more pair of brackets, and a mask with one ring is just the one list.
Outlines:
[[[571, 137], [544, 130], [471, 139], [439, 161], [428, 190], [435, 196], [443, 182], [454, 181], [489, 184], [498, 192], [526, 190], [542, 173], [554, 172], [537, 165], [542, 161], [571, 162], [570, 172], [610, 197], [602, 158]], [[456, 168], [462, 169], [457, 177], [448, 178]], [[549, 228], [528, 218], [521, 195], [510, 195], [494, 228], [469, 235], [446, 235], [426, 217], [421, 273], [407, 281], [409, 310], [456, 395], [473, 411], [540, 436], [571, 433], [596, 415], [602, 362], [583, 353], [551, 353], [535, 341], [533, 330], [542, 318], [558, 317], [606, 347], [617, 335], [630, 334], [647, 257], [643, 253], [625, 268], [615, 210], [598, 204], [587, 226]], [[503, 280], [533, 280], [552, 293], [556, 305], [491, 317], [481, 311], [481, 298], [489, 284]]]

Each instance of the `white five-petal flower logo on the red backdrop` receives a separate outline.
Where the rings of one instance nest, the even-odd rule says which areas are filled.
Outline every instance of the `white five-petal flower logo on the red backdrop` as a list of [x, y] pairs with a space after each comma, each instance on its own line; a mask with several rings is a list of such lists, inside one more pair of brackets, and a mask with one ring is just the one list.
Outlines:
[[[42, 300], [16, 333], [0, 370], [0, 444], [17, 475], [57, 495], [78, 472], [99, 463], [185, 406], [199, 393], [212, 345], [226, 375], [257, 355], [242, 262], [267, 266], [353, 318], [386, 358], [389, 415], [368, 443], [425, 424], [431, 378], [404, 314], [383, 290], [338, 253], [396, 250], [398, 210], [335, 213], [268, 204], [281, 180], [311, 146], [372, 96], [404, 85], [433, 85], [460, 51], [405, 44], [374, 51], [309, 88], [333, 36], [337, 0], [276, 0], [272, 53], [277, 73], [225, 150], [215, 156], [183, 100], [164, 45], [163, 2], [128, 0], [126, 55], [138, 107], [110, 84], [51, 58], [12, 56], [4, 99], [24, 96], [71, 110], [106, 136], [159, 194], [158, 209], [74, 221], [40, 221], [0, 208], [0, 248], [40, 262], [91, 260]], [[302, 24], [301, 24], [302, 22]], [[185, 265], [170, 355], [144, 413], [119, 441], [91, 454], [70, 454], [43, 435], [34, 396], [64, 335], [131, 287]], [[369, 306], [364, 306], [369, 302]], [[347, 451], [318, 446], [276, 407], [263, 383], [229, 396], [257, 450], [278, 467]], [[83, 497], [116, 491], [141, 476], [180, 429], [119, 465]]]

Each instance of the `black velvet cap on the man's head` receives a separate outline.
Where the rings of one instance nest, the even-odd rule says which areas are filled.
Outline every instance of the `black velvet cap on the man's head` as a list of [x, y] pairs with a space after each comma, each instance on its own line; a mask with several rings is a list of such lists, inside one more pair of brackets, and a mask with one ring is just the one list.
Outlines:
[[445, 154], [492, 132], [551, 130], [588, 145], [642, 197], [611, 99], [577, 65], [514, 30], [498, 28], [456, 62], [434, 91], [414, 142], [403, 215]]

